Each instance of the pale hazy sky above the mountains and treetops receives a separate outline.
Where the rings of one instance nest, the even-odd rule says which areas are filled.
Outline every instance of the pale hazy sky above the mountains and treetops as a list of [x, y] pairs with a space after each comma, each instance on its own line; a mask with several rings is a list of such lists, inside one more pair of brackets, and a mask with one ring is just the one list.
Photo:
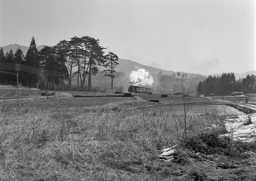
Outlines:
[[[143, 65], [189, 73], [256, 70], [255, 0], [0, 0], [0, 46], [91, 36]], [[16, 50], [14, 50], [16, 51]]]

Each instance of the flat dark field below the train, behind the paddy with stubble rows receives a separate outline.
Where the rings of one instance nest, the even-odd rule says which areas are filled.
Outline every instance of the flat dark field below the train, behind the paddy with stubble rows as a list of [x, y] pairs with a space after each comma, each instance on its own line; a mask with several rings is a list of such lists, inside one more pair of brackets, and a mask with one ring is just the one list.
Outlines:
[[[183, 102], [182, 95], [168, 95], [168, 97], [161, 97], [161, 94], [152, 94], [152, 95], [138, 94], [138, 96], [146, 101], [151, 99], [158, 99], [159, 102], [161, 103]], [[188, 102], [211, 102], [211, 101], [203, 97], [189, 97]]]

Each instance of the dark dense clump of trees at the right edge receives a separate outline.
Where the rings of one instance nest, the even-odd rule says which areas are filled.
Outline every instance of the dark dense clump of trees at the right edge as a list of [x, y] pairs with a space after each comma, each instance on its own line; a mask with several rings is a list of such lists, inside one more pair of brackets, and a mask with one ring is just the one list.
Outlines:
[[221, 76], [208, 76], [200, 81], [197, 86], [198, 94], [226, 96], [232, 92], [243, 92], [243, 94], [255, 93], [256, 82], [254, 75], [236, 80], [234, 73], [222, 73]]

